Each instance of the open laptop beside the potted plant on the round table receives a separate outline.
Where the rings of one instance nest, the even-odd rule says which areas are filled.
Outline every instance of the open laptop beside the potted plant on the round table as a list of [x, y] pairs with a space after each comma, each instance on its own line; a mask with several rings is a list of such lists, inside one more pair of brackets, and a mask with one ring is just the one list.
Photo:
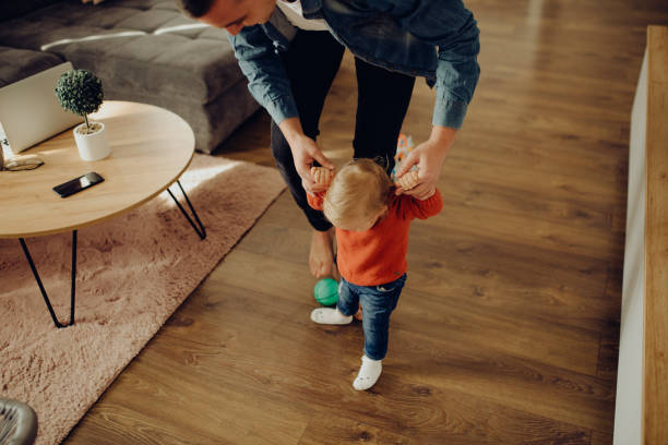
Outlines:
[[72, 63], [61, 63], [0, 88], [0, 129], [12, 153], [83, 122], [81, 116], [65, 111], [56, 97], [56, 81], [70, 70]]

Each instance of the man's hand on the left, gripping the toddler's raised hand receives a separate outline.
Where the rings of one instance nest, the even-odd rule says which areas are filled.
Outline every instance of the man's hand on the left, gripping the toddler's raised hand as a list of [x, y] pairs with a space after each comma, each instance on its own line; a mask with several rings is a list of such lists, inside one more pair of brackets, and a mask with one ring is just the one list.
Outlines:
[[295, 168], [301, 178], [303, 189], [309, 193], [318, 193], [326, 190], [326, 187], [315, 183], [311, 177], [313, 161], [322, 167], [334, 169], [334, 164], [322, 154], [315, 141], [303, 134], [299, 118], [288, 118], [278, 124], [293, 152]]

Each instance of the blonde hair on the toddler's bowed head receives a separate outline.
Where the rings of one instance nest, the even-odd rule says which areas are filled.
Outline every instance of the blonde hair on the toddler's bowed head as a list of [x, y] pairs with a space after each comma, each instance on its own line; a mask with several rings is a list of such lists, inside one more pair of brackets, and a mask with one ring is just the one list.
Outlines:
[[334, 226], [377, 215], [387, 203], [392, 181], [371, 159], [353, 159], [332, 179], [323, 201], [325, 217]]

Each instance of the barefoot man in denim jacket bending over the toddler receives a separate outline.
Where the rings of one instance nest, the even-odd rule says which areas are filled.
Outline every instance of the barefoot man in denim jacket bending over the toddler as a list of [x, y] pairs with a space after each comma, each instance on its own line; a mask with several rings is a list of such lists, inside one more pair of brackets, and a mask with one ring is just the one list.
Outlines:
[[322, 188], [310, 167], [333, 168], [315, 139], [344, 47], [355, 56], [355, 157], [393, 157], [416, 76], [436, 85], [430, 137], [397, 170], [419, 167], [417, 199], [433, 189], [478, 82], [478, 28], [462, 0], [177, 0], [189, 15], [225, 28], [253, 97], [270, 112], [272, 154], [313, 227], [309, 264], [333, 275], [333, 230], [307, 202]]

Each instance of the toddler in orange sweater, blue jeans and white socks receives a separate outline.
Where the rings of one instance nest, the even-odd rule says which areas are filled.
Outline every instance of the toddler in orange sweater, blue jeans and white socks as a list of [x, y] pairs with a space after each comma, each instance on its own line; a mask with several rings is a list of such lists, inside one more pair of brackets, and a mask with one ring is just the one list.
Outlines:
[[[371, 159], [355, 159], [335, 176], [313, 167], [311, 176], [315, 182], [329, 184], [325, 192], [308, 194], [308, 201], [336, 228], [336, 263], [342, 277], [336, 309], [314, 309], [311, 320], [348, 324], [361, 305], [365, 354], [353, 386], [368, 389], [380, 377], [387, 352], [390, 314], [406, 282], [410, 220], [437, 215], [443, 202], [436, 188], [424, 201], [397, 196], [385, 169]], [[408, 172], [397, 182], [410, 189], [415, 181], [417, 172]]]

